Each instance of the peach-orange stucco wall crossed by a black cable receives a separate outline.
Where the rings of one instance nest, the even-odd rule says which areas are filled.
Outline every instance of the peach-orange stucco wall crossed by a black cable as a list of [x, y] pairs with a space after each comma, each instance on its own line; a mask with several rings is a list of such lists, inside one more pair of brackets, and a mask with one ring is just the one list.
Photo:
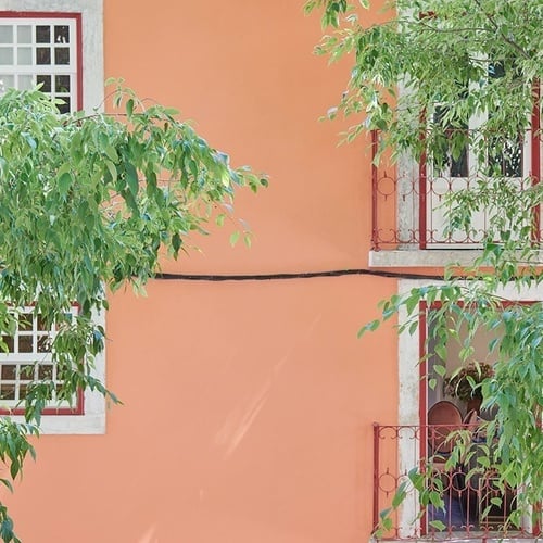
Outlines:
[[[317, 118], [345, 66], [302, 0], [105, 0], [106, 76], [179, 108], [270, 188], [167, 263], [194, 274], [367, 266], [369, 161]], [[42, 437], [9, 497], [25, 543], [354, 543], [371, 523], [371, 422], [396, 420], [396, 339], [356, 339], [392, 279], [151, 281], [112, 296], [100, 437]]]

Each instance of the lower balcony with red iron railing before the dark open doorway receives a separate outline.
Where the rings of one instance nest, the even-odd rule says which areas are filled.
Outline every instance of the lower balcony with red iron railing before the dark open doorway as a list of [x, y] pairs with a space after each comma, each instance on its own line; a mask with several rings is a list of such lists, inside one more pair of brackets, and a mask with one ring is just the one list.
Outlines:
[[[472, 426], [455, 427], [464, 435], [475, 435]], [[431, 443], [450, 432], [442, 425], [381, 426], [374, 425], [374, 526], [379, 526], [380, 513], [389, 507], [403, 482], [406, 495], [400, 507], [390, 514], [391, 523], [377, 539], [383, 541], [419, 540], [535, 540], [541, 538], [541, 508], [539, 521], [523, 518], [518, 526], [508, 523], [515, 509], [515, 492], [502, 492], [495, 485], [492, 466], [478, 458], [482, 443], [473, 441], [472, 454], [466, 463], [445, 469], [439, 454], [431, 453]], [[471, 439], [470, 438], [470, 439]], [[428, 462], [421, 462], [428, 458]], [[407, 473], [426, 465], [426, 485], [439, 491], [444, 508], [419, 505]], [[484, 465], [484, 469], [482, 466]], [[470, 473], [467, 476], [467, 473]], [[432, 485], [432, 487], [429, 487]]]

